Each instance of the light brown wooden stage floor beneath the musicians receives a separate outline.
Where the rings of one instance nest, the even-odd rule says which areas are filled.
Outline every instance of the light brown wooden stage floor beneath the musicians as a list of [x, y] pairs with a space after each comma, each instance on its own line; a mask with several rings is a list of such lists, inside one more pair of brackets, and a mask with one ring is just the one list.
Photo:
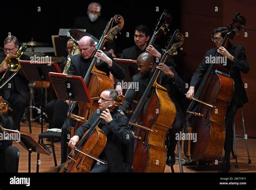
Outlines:
[[[46, 126], [44, 126], [44, 131], [46, 131]], [[29, 127], [27, 123], [22, 123], [21, 132], [29, 134]], [[30, 134], [33, 139], [38, 140], [38, 134], [41, 132], [41, 125], [39, 123], [32, 123], [32, 133]], [[48, 141], [45, 141], [48, 143]], [[238, 168], [235, 168], [235, 160], [231, 159], [231, 171], [230, 172], [256, 172], [256, 139], [248, 138], [250, 156], [252, 164], [248, 164], [248, 157], [245, 147], [245, 141], [241, 138], [237, 140], [237, 153], [238, 153]], [[13, 146], [19, 148], [20, 157], [19, 157], [19, 170], [18, 172], [28, 172], [28, 152], [20, 146], [17, 142], [14, 141]], [[49, 148], [51, 150], [51, 148]], [[177, 149], [177, 148], [176, 148]], [[55, 142], [55, 151], [57, 156], [57, 164], [60, 164], [60, 142]], [[223, 152], [224, 155], [224, 152]], [[176, 157], [178, 153], [176, 151]], [[187, 160], [182, 151], [182, 158]], [[31, 154], [31, 172], [36, 172], [36, 159], [37, 154]], [[197, 171], [195, 166], [184, 166], [184, 172], [186, 173], [199, 173], [199, 172], [211, 172], [217, 173], [218, 166], [210, 165], [209, 167]], [[41, 165], [39, 167], [39, 172], [57, 172], [57, 167], [54, 166], [53, 155], [43, 155], [41, 154]], [[165, 172], [171, 172], [169, 166], [166, 165]], [[176, 165], [174, 165], [174, 172], [179, 173], [178, 160], [176, 160]]]

